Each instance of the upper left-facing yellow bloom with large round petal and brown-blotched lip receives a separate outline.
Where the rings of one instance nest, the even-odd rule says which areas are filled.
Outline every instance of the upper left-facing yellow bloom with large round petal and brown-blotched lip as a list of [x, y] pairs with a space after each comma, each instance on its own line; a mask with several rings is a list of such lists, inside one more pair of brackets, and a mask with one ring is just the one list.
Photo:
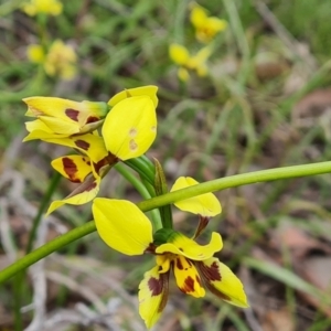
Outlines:
[[65, 156], [52, 162], [56, 171], [81, 185], [67, 197], [54, 201], [47, 214], [66, 203], [84, 204], [92, 201], [99, 191], [102, 178], [116, 162], [138, 158], [149, 149], [157, 134], [152, 98], [142, 95], [117, 102], [108, 113], [102, 131], [103, 137], [96, 132], [56, 137], [45, 130], [42, 134], [40, 130], [32, 131], [28, 136], [29, 139], [39, 138], [71, 147], [83, 154]]

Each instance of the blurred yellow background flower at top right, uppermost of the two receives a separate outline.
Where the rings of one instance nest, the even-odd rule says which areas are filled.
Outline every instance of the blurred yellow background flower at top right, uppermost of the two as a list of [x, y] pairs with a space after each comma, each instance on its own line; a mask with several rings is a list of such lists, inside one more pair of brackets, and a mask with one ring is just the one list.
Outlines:
[[227, 22], [215, 17], [209, 17], [207, 12], [201, 6], [193, 6], [191, 11], [191, 23], [195, 28], [195, 38], [209, 43], [218, 32], [224, 31]]

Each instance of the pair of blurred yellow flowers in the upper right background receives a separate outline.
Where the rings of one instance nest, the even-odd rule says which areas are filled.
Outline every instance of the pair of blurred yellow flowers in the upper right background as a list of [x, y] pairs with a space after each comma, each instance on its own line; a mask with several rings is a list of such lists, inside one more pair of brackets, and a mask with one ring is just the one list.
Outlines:
[[179, 66], [178, 77], [182, 82], [186, 82], [190, 78], [190, 72], [195, 72], [199, 77], [207, 75], [206, 61], [213, 52], [211, 42], [218, 32], [227, 26], [226, 21], [209, 17], [206, 10], [197, 4], [193, 6], [190, 20], [195, 29], [196, 40], [207, 45], [194, 55], [191, 55], [189, 50], [181, 44], [172, 43], [170, 45], [169, 56]]

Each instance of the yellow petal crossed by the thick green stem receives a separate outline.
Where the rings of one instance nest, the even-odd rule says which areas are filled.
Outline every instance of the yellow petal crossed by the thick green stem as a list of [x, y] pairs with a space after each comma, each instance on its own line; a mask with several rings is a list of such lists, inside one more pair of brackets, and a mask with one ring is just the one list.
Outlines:
[[[191, 177], [180, 177], [171, 188], [171, 192], [196, 184], [199, 184], [199, 182]], [[174, 205], [182, 211], [205, 217], [212, 217], [222, 212], [221, 204], [213, 193], [205, 193], [186, 200], [177, 201], [174, 202]]]

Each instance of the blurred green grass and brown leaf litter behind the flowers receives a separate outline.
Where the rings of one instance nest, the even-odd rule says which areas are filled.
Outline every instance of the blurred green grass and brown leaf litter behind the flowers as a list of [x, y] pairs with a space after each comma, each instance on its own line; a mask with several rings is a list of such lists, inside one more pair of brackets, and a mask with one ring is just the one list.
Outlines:
[[[63, 1], [61, 13], [32, 17], [25, 2], [0, 2], [0, 269], [26, 246], [53, 175], [50, 161], [66, 152], [21, 143], [24, 97], [107, 102], [124, 88], [159, 86], [158, 137], [148, 157], [163, 164], [170, 185], [179, 175], [202, 182], [330, 159], [328, 1], [199, 1], [227, 29], [212, 42], [209, 74], [191, 73], [186, 83], [169, 46], [179, 43], [192, 54], [204, 46], [190, 23], [192, 2]], [[67, 51], [56, 54], [54, 75], [28, 56], [31, 45], [46, 54], [56, 40], [75, 54], [71, 79], [61, 76]], [[189, 298], [171, 286], [154, 330], [331, 330], [330, 184], [330, 175], [317, 175], [218, 192], [223, 213], [209, 231], [221, 232], [218, 257], [245, 284], [250, 309], [211, 295]], [[73, 188], [61, 181], [54, 199]], [[99, 196], [141, 200], [116, 171]], [[192, 235], [195, 217], [173, 213], [177, 228]], [[42, 223], [40, 243], [89, 220], [89, 204], [64, 206]], [[97, 234], [68, 245], [23, 280], [22, 324], [34, 316], [39, 324], [30, 331], [145, 330], [136, 295], [152, 263], [111, 252]], [[45, 292], [38, 292], [33, 275], [46, 281]], [[13, 289], [0, 287], [0, 330], [20, 330]], [[29, 305], [41, 298], [34, 313]]]

